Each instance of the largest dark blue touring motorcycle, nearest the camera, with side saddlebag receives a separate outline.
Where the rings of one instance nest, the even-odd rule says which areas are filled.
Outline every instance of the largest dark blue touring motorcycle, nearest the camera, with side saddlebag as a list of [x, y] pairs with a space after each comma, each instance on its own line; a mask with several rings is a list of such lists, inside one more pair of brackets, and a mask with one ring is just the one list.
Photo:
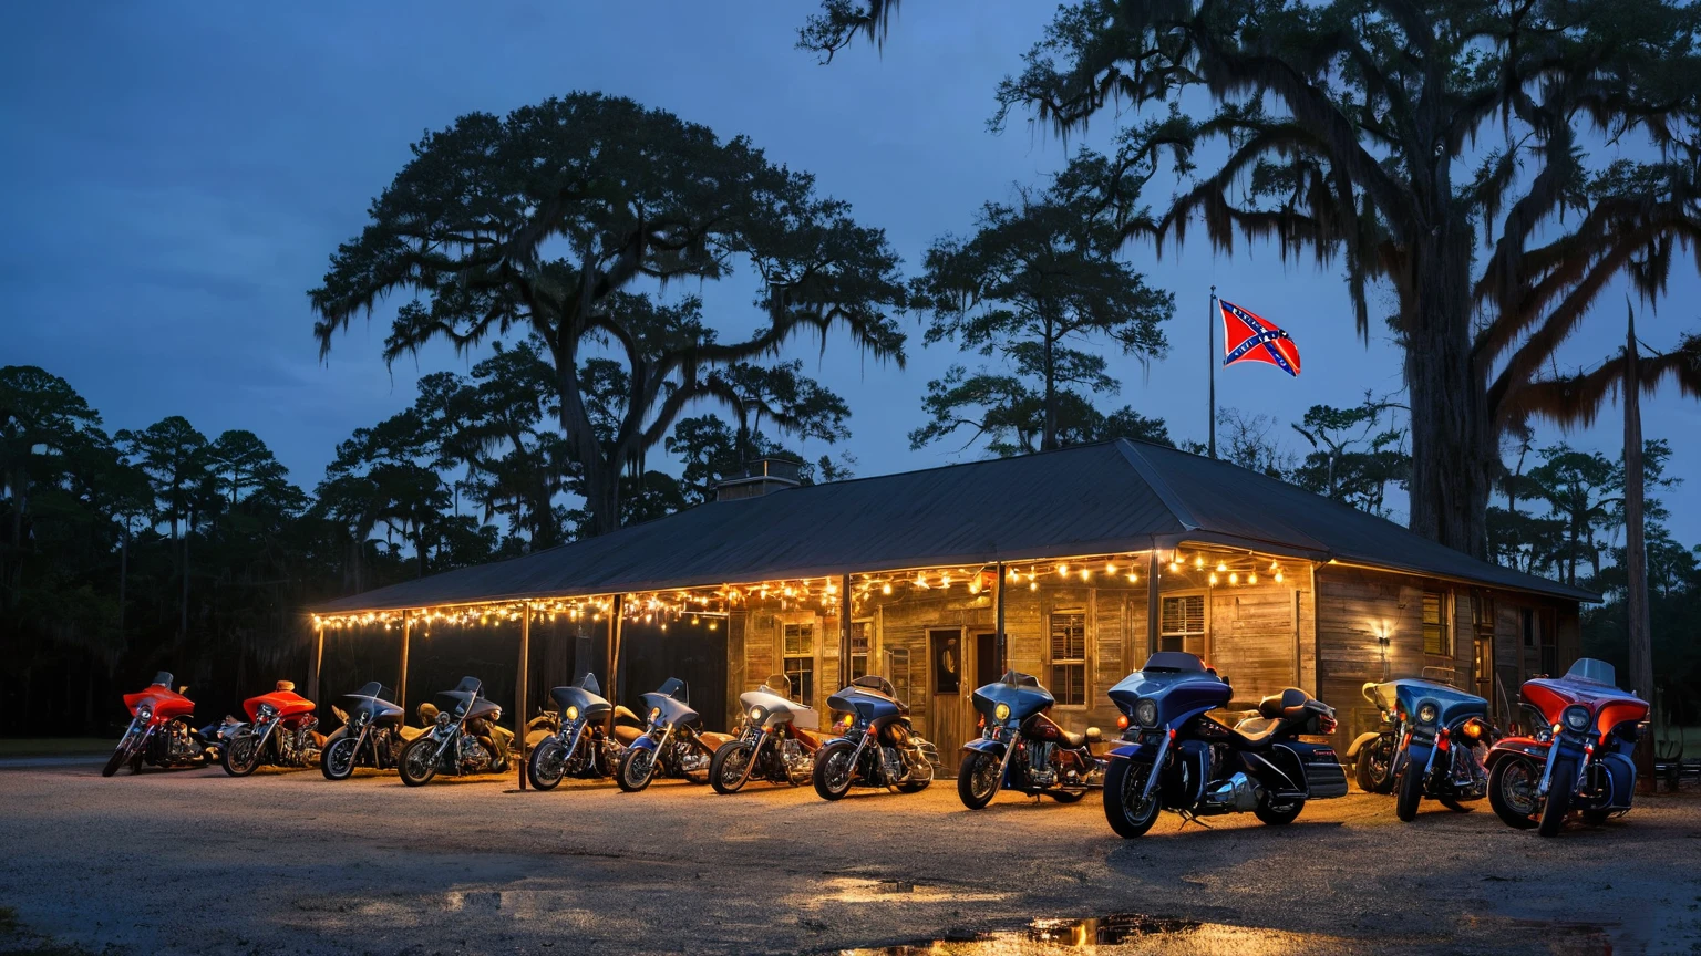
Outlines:
[[1123, 743], [1104, 776], [1104, 818], [1124, 839], [1143, 835], [1158, 810], [1184, 820], [1254, 813], [1291, 823], [1306, 800], [1347, 794], [1347, 772], [1325, 743], [1335, 711], [1298, 687], [1259, 703], [1259, 716], [1233, 726], [1211, 711], [1228, 704], [1228, 680], [1182, 652], [1157, 652], [1111, 687]]

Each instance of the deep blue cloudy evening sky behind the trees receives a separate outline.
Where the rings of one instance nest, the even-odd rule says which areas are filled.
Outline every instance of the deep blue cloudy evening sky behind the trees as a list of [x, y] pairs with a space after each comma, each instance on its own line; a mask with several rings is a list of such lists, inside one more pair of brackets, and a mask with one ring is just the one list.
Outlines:
[[[321, 364], [306, 289], [366, 221], [367, 201], [425, 129], [471, 111], [505, 112], [578, 88], [628, 95], [748, 134], [816, 174], [883, 226], [913, 269], [927, 243], [970, 228], [987, 199], [1036, 182], [1067, 151], [1024, 117], [987, 131], [993, 87], [1051, 17], [1046, 3], [905, 3], [883, 53], [856, 46], [832, 66], [793, 49], [803, 2], [748, 3], [7, 3], [0, 9], [0, 362], [66, 378], [109, 429], [180, 413], [202, 432], [252, 429], [310, 488], [333, 446], [408, 405], [420, 373], [469, 367], [446, 349], [386, 371], [383, 315], [356, 325]], [[973, 15], [968, 12], [973, 10]], [[1109, 122], [1094, 129], [1102, 139]], [[1162, 206], [1169, 185], [1148, 192]], [[1398, 352], [1352, 328], [1337, 265], [1283, 262], [1274, 248], [1211, 252], [1203, 233], [1158, 259], [1129, 257], [1177, 298], [1172, 350], [1150, 367], [1116, 357], [1121, 396], [1204, 437], [1208, 287], [1286, 327], [1305, 374], [1271, 366], [1218, 374], [1218, 400], [1298, 420], [1313, 403], [1354, 405], [1400, 386]], [[704, 289], [709, 320], [755, 325], [748, 287]], [[1670, 298], [1638, 328], [1670, 345], [1692, 327], [1698, 287], [1679, 257]], [[1567, 344], [1562, 367], [1623, 342], [1623, 294]], [[1386, 311], [1386, 310], [1383, 310]], [[912, 451], [929, 378], [963, 361], [922, 349], [883, 367], [828, 344], [793, 352], [854, 410], [859, 475], [959, 461]], [[973, 364], [978, 357], [970, 356]], [[1104, 401], [1111, 405], [1109, 400]], [[1645, 403], [1674, 469], [1701, 464], [1701, 408], [1674, 391]], [[1546, 439], [1558, 437], [1551, 429]], [[1609, 410], [1573, 444], [1616, 456]], [[1300, 451], [1291, 432], [1284, 442]], [[828, 451], [806, 447], [810, 454]], [[1674, 531], [1701, 539], [1694, 488], [1669, 495]]]

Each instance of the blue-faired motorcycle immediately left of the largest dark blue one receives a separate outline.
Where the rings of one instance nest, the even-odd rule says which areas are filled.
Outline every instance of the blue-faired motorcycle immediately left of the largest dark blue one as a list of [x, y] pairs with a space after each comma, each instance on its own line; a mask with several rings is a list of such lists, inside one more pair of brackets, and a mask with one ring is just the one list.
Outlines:
[[1104, 760], [1092, 755], [1099, 728], [1070, 733], [1046, 711], [1056, 703], [1039, 680], [1010, 670], [997, 684], [975, 689], [981, 733], [963, 745], [958, 796], [980, 810], [998, 789], [1046, 794], [1075, 803], [1104, 777]]

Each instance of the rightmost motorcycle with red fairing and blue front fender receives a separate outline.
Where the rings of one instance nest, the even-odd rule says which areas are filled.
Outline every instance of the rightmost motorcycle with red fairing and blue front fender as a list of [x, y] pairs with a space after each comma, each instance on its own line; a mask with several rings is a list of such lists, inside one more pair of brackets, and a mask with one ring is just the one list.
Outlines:
[[1531, 737], [1507, 737], [1488, 752], [1488, 803], [1519, 830], [1553, 837], [1565, 815], [1587, 823], [1630, 813], [1636, 793], [1631, 750], [1648, 720], [1648, 703], [1619, 691], [1613, 665], [1580, 658], [1565, 677], [1524, 682], [1524, 706], [1539, 725]]

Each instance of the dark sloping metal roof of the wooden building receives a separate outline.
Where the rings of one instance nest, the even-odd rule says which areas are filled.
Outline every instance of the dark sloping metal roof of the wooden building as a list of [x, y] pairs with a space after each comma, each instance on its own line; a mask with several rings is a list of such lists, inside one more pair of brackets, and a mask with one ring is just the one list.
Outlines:
[[325, 602], [325, 614], [668, 590], [1198, 541], [1340, 560], [1573, 600], [1266, 475], [1114, 441], [709, 502], [612, 534]]

